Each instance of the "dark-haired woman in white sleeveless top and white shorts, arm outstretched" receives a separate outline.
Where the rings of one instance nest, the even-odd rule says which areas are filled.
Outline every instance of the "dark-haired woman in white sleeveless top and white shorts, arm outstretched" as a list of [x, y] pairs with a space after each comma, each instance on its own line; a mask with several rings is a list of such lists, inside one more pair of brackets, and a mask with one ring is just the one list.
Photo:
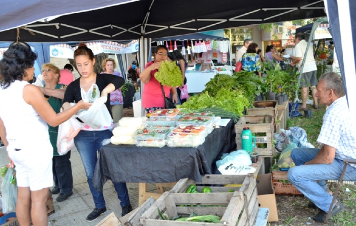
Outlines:
[[58, 126], [91, 104], [80, 101], [56, 114], [43, 96], [46, 89], [42, 93], [28, 83], [33, 78], [36, 58], [28, 44], [17, 42], [10, 45], [0, 60], [0, 137], [9, 161], [15, 164], [17, 220], [20, 225], [30, 225], [32, 219], [33, 225], [45, 226], [48, 225], [45, 203], [49, 187], [53, 186], [53, 148], [47, 123]]

